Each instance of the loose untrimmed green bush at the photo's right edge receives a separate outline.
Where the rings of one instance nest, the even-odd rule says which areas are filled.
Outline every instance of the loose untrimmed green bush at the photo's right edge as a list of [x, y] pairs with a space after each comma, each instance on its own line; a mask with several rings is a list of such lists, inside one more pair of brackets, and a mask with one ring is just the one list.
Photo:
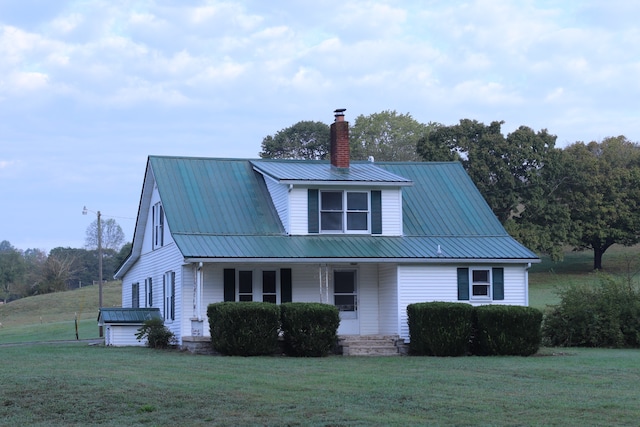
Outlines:
[[566, 347], [640, 347], [640, 292], [602, 277], [598, 286], [571, 286], [546, 314], [545, 343]]

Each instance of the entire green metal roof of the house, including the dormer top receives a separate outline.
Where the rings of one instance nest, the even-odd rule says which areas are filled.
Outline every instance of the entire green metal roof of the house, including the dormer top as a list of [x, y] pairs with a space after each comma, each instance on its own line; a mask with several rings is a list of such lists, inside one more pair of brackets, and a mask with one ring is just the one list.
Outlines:
[[335, 178], [413, 182], [402, 190], [404, 235], [398, 237], [285, 233], [264, 178], [254, 168], [280, 180], [315, 182], [323, 174], [331, 180], [328, 162], [152, 156], [149, 164], [185, 258], [537, 259], [507, 234], [458, 162], [354, 162], [353, 175]]

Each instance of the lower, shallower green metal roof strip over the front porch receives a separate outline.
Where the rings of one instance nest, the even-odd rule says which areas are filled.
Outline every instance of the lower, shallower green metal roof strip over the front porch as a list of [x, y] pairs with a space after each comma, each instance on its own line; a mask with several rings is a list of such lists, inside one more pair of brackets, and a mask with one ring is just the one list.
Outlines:
[[510, 236], [221, 236], [174, 234], [185, 259], [344, 262], [539, 259]]

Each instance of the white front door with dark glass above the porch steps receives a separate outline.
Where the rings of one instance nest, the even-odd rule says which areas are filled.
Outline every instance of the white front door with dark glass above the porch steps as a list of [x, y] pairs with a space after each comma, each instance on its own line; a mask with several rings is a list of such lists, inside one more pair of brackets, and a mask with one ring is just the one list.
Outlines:
[[356, 270], [334, 270], [333, 302], [340, 310], [340, 335], [359, 335], [358, 287]]

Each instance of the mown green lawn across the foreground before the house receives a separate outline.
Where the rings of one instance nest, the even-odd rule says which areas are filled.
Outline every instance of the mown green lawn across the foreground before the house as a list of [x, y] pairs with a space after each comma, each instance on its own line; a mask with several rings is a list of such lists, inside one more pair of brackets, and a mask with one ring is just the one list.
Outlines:
[[0, 425], [637, 425], [640, 351], [558, 351], [316, 359], [4, 346]]

